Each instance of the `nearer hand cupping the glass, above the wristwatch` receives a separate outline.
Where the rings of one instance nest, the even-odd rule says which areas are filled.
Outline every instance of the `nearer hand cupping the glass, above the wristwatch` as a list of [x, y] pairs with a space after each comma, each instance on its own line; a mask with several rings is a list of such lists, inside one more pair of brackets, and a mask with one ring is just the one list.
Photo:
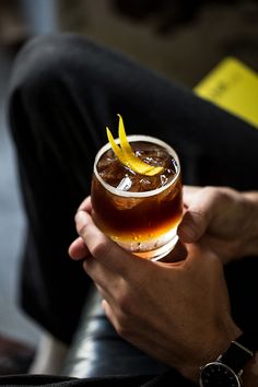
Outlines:
[[199, 366], [241, 333], [221, 260], [195, 244], [179, 262], [143, 260], [105, 237], [90, 213], [86, 199], [75, 216], [80, 237], [69, 253], [83, 256], [106, 316], [124, 339], [196, 382]]

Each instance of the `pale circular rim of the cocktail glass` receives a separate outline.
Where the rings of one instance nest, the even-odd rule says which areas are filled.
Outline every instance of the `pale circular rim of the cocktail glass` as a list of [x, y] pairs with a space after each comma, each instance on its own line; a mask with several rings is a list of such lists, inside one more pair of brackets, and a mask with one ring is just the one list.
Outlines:
[[[94, 161], [94, 166], [93, 166], [93, 172], [95, 177], [97, 178], [97, 180], [113, 195], [117, 195], [120, 197], [128, 197], [128, 198], [144, 198], [144, 197], [150, 197], [150, 196], [154, 196], [154, 195], [159, 195], [161, 192], [163, 192], [165, 189], [167, 189], [168, 187], [171, 187], [179, 177], [180, 175], [180, 162], [179, 162], [179, 157], [176, 153], [176, 151], [174, 150], [174, 148], [172, 148], [171, 145], [168, 145], [165, 141], [160, 140], [155, 137], [152, 136], [145, 136], [145, 134], [131, 134], [131, 136], [127, 136], [127, 139], [129, 142], [137, 142], [137, 141], [145, 141], [145, 142], [151, 142], [151, 143], [156, 143], [159, 145], [161, 145], [162, 148], [164, 148], [165, 150], [168, 151], [168, 153], [175, 159], [176, 163], [177, 163], [177, 171], [175, 176], [173, 177], [172, 180], [169, 180], [167, 184], [165, 184], [164, 186], [156, 188], [156, 189], [152, 189], [150, 191], [144, 191], [144, 192], [132, 192], [132, 191], [124, 191], [119, 188], [113, 187], [110, 186], [108, 183], [106, 183], [101, 176], [99, 173], [97, 172], [97, 162], [101, 159], [101, 156], [108, 151], [112, 145], [109, 142], [107, 142], [105, 145], [103, 145], [99, 151], [97, 152], [96, 156], [95, 156], [95, 161]], [[120, 140], [117, 138], [115, 139], [115, 142], [117, 144], [120, 143]]]

